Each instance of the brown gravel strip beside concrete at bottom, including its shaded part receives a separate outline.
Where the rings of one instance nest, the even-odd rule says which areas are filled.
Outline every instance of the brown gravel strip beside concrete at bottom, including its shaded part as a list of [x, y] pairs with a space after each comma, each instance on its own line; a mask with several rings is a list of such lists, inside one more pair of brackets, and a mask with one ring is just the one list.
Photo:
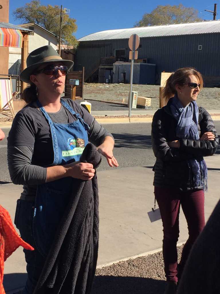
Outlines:
[[[177, 248], [178, 259], [182, 246]], [[92, 294], [162, 294], [166, 288], [162, 251], [96, 270]]]

